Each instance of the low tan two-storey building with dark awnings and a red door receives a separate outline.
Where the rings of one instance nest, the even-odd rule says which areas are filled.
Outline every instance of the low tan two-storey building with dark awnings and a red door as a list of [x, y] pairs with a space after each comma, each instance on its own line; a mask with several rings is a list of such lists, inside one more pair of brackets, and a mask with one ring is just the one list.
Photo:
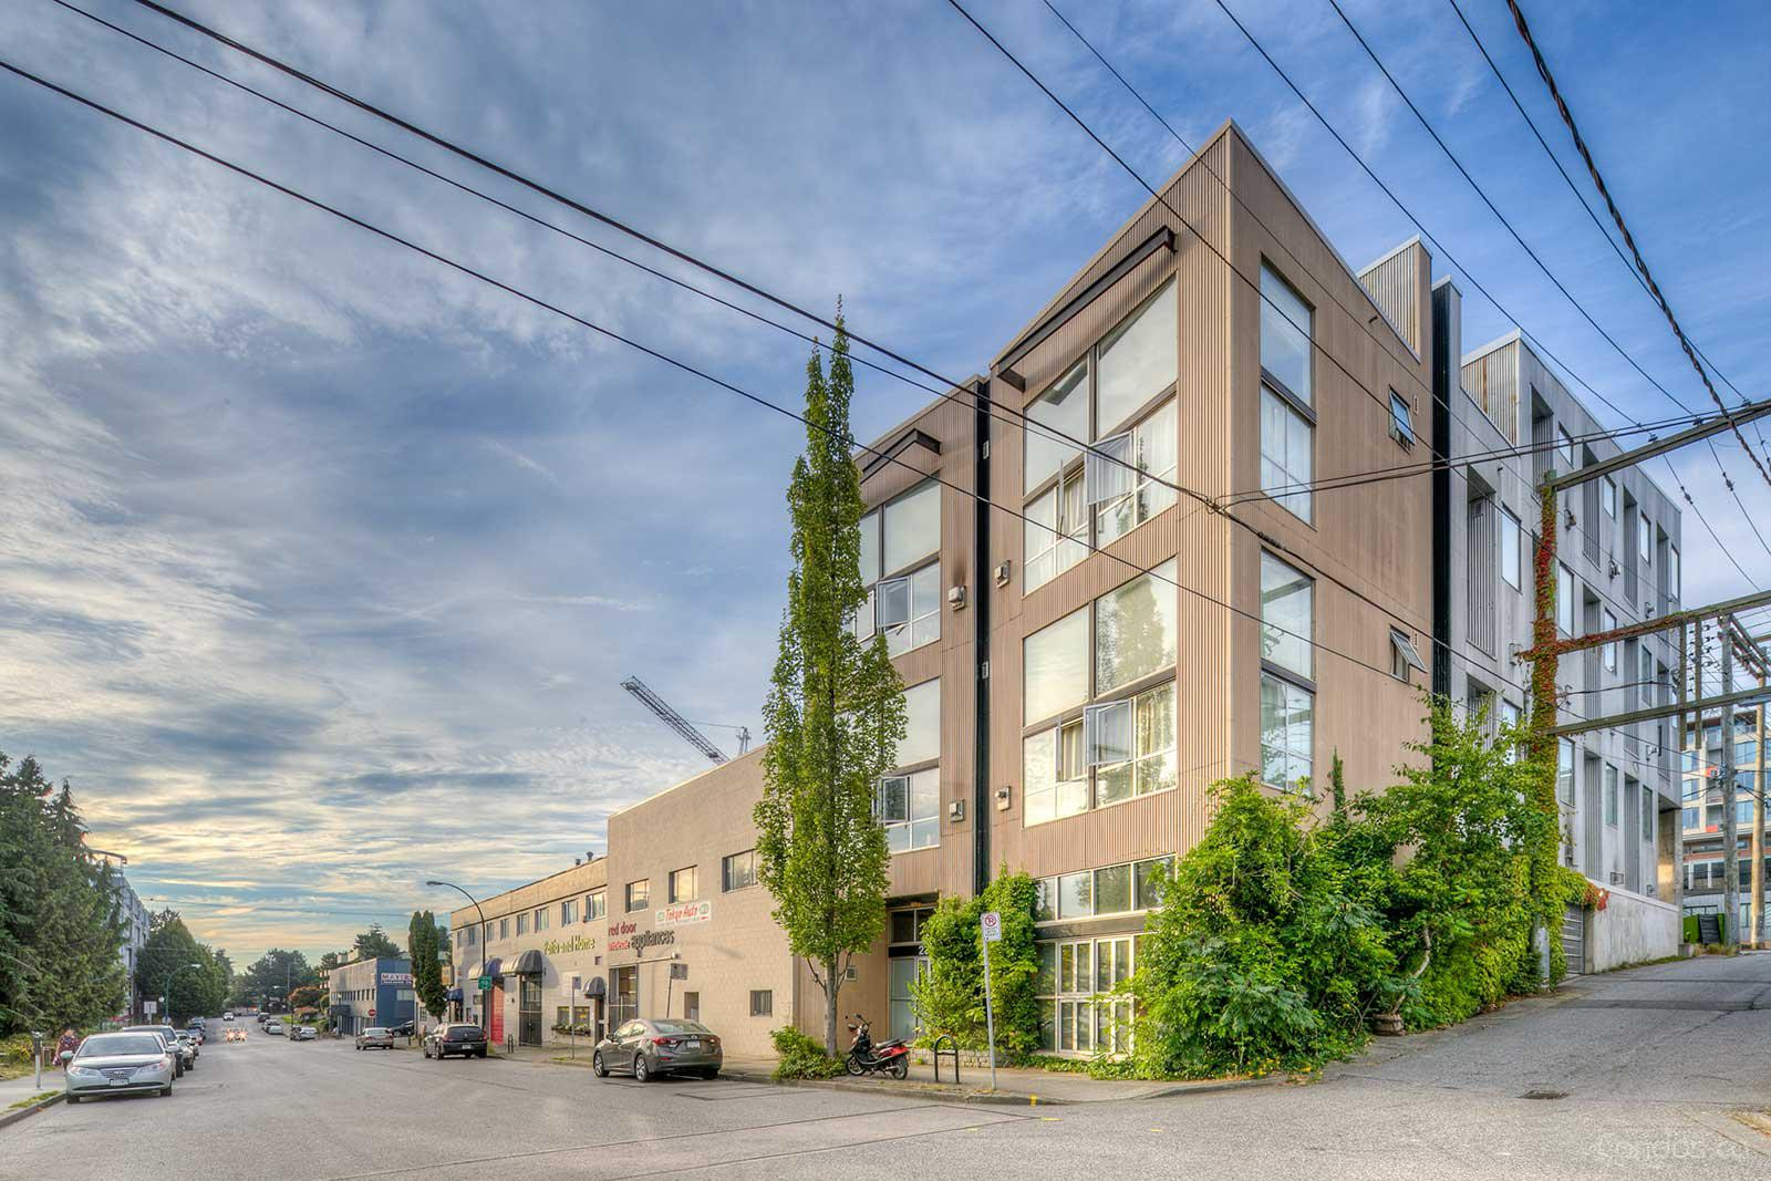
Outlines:
[[[602, 857], [450, 912], [450, 1000], [494, 1045], [540, 1046], [606, 1029]], [[574, 1034], [572, 1030], [583, 1030]]]

